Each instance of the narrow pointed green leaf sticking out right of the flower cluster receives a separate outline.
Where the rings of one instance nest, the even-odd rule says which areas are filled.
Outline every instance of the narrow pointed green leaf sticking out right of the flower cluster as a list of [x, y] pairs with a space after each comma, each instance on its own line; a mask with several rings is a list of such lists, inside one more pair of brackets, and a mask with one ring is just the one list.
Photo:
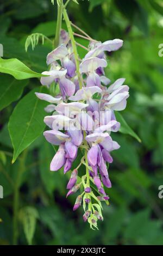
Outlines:
[[135, 139], [137, 139], [137, 141], [141, 143], [141, 139], [139, 138], [139, 136], [137, 136], [136, 133], [131, 129], [131, 127], [126, 123], [122, 115], [119, 112], [116, 112], [115, 116], [117, 121], [121, 123], [120, 132], [124, 134], [129, 134], [130, 136], [134, 137]]

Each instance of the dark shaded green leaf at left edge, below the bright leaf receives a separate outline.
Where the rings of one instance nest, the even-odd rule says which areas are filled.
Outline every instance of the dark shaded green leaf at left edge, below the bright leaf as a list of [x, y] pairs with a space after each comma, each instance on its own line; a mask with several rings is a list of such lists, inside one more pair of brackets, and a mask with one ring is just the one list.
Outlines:
[[0, 78], [0, 111], [16, 101], [22, 95], [23, 89], [28, 84], [28, 80], [17, 81], [14, 77], [1, 75]]

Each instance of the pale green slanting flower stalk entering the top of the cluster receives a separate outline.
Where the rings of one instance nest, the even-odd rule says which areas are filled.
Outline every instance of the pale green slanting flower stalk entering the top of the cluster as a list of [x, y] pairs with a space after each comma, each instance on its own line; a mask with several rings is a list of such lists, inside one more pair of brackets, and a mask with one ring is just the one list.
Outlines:
[[73, 36], [71, 22], [69, 20], [69, 17], [67, 15], [67, 11], [66, 11], [65, 8], [64, 8], [63, 14], [64, 14], [64, 19], [65, 19], [65, 22], [66, 22], [66, 26], [67, 26], [67, 29], [68, 29], [68, 33], [70, 35], [71, 44], [72, 44], [72, 48], [73, 48], [74, 59], [75, 59], [75, 62], [76, 62], [76, 69], [77, 69], [77, 75], [78, 75], [78, 80], [79, 80], [79, 87], [80, 87], [80, 89], [82, 89], [83, 82], [82, 82], [82, 77], [80, 75], [80, 70], [79, 70], [79, 56], [78, 56], [76, 41], [75, 41], [74, 36]]

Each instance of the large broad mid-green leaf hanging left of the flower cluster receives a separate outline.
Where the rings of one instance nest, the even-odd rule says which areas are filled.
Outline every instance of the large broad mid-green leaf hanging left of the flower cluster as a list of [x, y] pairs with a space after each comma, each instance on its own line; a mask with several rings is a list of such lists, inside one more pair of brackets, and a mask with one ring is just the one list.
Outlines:
[[[12, 163], [24, 149], [39, 137], [45, 128], [43, 123], [45, 111], [43, 108], [47, 103], [36, 97], [35, 92], [38, 91], [39, 88], [36, 88], [24, 96], [11, 114], [8, 128], [14, 147]], [[47, 92], [47, 89], [42, 87], [40, 92]]]

